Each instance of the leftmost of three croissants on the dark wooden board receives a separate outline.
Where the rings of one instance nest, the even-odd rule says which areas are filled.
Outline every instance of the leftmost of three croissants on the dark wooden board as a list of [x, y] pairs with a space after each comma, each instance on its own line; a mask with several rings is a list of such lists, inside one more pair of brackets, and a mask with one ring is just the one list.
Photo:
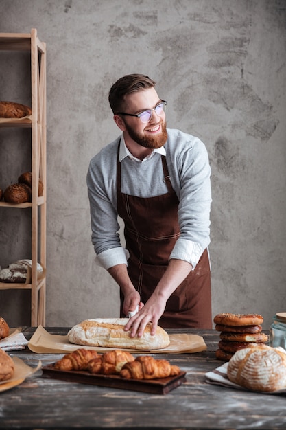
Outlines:
[[86, 370], [88, 361], [95, 359], [95, 357], [98, 357], [96, 351], [80, 348], [65, 354], [62, 359], [56, 361], [54, 367], [58, 370]]

